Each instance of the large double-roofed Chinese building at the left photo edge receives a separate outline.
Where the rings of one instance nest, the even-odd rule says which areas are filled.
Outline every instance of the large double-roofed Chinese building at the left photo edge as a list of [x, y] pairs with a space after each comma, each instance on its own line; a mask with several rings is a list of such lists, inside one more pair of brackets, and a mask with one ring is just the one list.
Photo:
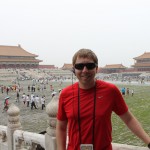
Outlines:
[[38, 68], [38, 55], [32, 54], [18, 46], [0, 45], [0, 69], [2, 68]]

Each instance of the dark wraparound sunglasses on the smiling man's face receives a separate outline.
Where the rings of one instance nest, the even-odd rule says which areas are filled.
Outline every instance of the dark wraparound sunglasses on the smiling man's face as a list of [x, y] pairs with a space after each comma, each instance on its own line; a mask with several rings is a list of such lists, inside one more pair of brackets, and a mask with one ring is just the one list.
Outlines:
[[83, 68], [85, 66], [88, 70], [92, 70], [97, 66], [97, 64], [95, 64], [95, 63], [79, 63], [79, 64], [74, 65], [75, 69], [77, 69], [77, 70], [83, 70]]

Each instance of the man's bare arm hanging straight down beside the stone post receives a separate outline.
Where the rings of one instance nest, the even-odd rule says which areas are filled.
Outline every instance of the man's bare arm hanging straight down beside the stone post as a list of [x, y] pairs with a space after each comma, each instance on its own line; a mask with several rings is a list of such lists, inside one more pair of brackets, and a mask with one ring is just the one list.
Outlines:
[[66, 150], [67, 121], [57, 120], [56, 141], [57, 150]]

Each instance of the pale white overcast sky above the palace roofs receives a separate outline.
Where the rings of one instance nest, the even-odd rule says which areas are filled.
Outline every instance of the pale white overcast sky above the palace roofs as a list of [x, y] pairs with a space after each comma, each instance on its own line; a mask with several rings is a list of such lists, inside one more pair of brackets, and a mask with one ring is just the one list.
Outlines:
[[72, 63], [81, 48], [99, 67], [150, 52], [150, 0], [1, 0], [0, 45], [39, 55], [41, 64]]

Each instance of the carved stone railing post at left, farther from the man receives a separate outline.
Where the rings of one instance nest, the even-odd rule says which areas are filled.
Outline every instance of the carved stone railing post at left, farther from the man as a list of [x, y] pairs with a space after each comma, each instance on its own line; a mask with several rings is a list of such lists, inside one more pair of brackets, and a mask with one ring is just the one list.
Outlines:
[[8, 150], [13, 150], [13, 133], [17, 129], [21, 129], [21, 124], [19, 121], [20, 110], [14, 104], [10, 105], [7, 111], [8, 113], [8, 124], [7, 124], [7, 139], [8, 139]]

